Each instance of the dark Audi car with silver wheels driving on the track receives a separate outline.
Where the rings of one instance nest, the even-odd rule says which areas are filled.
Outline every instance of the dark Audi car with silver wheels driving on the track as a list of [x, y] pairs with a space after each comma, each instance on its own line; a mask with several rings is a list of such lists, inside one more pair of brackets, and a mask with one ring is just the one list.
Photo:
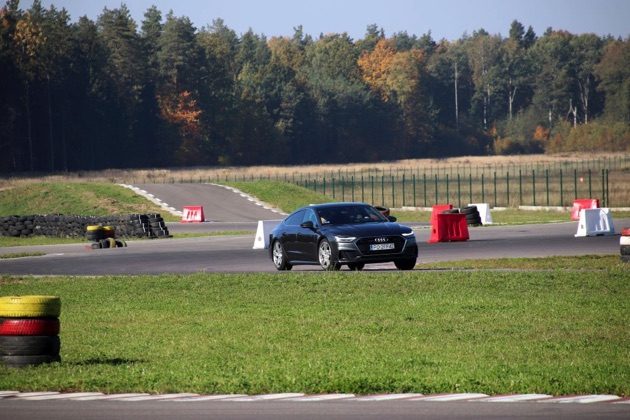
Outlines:
[[365, 264], [384, 262], [411, 270], [418, 257], [416, 237], [411, 228], [395, 222], [364, 203], [302, 207], [271, 232], [271, 260], [278, 270], [301, 264], [362, 270]]

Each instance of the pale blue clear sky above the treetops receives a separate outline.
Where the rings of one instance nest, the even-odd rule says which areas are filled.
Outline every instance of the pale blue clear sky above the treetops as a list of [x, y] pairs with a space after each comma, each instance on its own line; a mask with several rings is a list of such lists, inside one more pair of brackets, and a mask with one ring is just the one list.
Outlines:
[[[22, 0], [28, 9], [32, 0]], [[291, 36], [302, 25], [304, 32], [347, 32], [363, 38], [368, 25], [383, 28], [386, 36], [431, 32], [435, 40], [455, 40], [481, 28], [507, 36], [516, 19], [538, 35], [549, 27], [574, 34], [630, 36], [630, 0], [42, 0], [65, 8], [72, 21], [86, 15], [96, 20], [103, 8], [126, 4], [140, 26], [144, 12], [155, 5], [163, 16], [170, 10], [186, 16], [201, 29], [221, 18], [237, 34], [250, 28], [257, 34]]]

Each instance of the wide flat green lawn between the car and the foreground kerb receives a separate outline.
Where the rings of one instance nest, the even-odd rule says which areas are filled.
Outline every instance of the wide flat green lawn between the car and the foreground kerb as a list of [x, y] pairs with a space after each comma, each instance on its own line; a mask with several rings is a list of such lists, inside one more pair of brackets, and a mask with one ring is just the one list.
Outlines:
[[63, 360], [0, 368], [0, 389], [630, 395], [630, 271], [614, 265], [4, 277], [0, 289], [61, 297]]

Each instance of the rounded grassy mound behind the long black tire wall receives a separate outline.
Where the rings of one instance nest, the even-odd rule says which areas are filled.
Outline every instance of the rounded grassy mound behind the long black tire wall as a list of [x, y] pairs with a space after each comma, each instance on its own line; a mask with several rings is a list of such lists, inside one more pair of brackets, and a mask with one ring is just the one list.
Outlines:
[[38, 183], [0, 191], [0, 216], [32, 214], [108, 216], [132, 213], [160, 213], [167, 220], [174, 218], [133, 191], [115, 184]]

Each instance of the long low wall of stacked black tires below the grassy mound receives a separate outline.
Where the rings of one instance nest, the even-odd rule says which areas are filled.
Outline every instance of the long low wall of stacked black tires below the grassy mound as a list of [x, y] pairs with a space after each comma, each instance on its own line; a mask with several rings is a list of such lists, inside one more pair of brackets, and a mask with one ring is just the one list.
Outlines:
[[[31, 215], [0, 217], [0, 236], [28, 237], [50, 236], [62, 238], [85, 238], [92, 242], [115, 232], [120, 238], [157, 237], [151, 233], [152, 226], [168, 231], [164, 219], [158, 213], [118, 216], [66, 216]], [[111, 229], [105, 229], [111, 228]], [[169, 235], [161, 235], [160, 237]]]

